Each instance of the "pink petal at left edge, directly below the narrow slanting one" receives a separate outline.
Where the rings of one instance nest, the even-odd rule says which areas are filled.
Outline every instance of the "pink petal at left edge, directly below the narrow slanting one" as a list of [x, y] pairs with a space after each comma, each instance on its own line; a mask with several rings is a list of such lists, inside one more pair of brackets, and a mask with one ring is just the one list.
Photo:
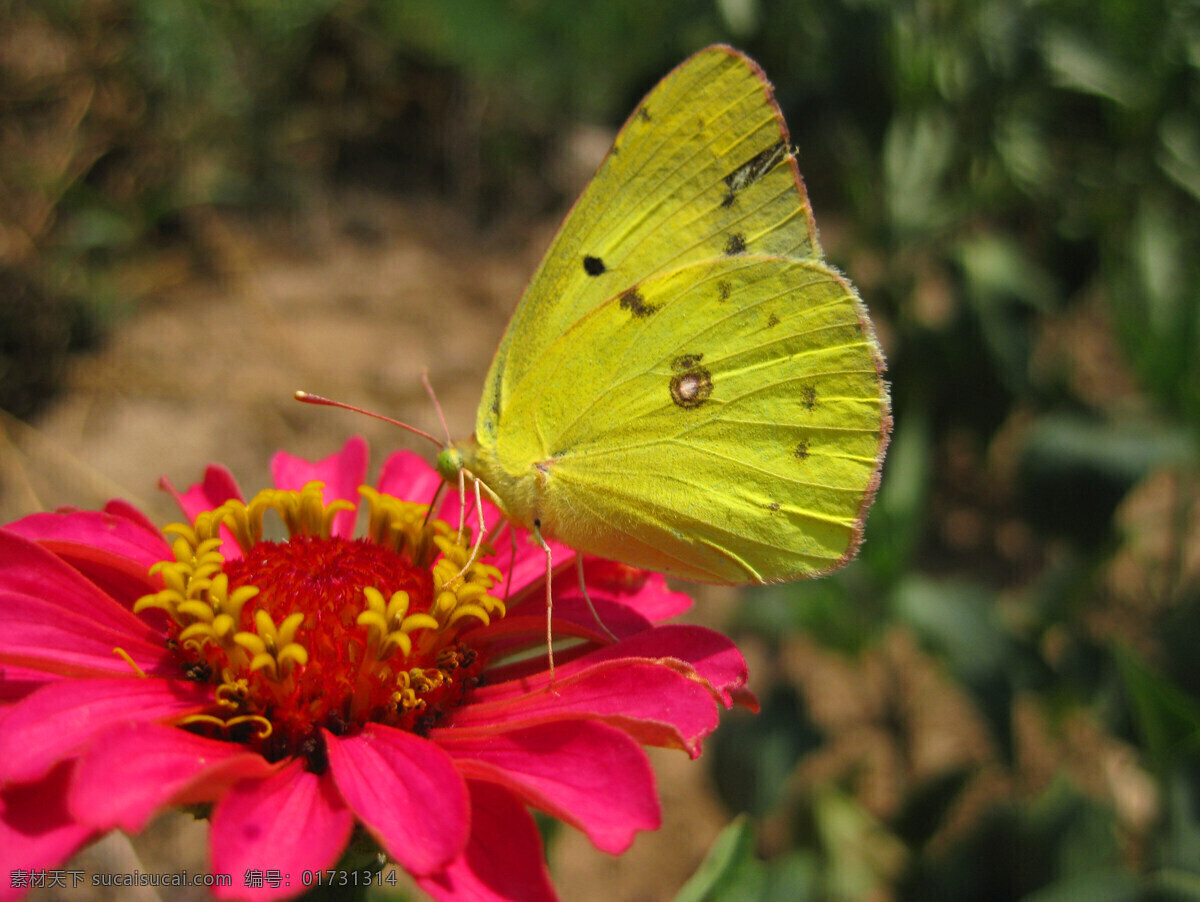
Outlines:
[[114, 654], [124, 650], [143, 673], [178, 675], [162, 639], [146, 642], [90, 617], [64, 611], [46, 599], [0, 591], [5, 629], [0, 630], [0, 661], [49, 671], [66, 676], [132, 675], [128, 663]]

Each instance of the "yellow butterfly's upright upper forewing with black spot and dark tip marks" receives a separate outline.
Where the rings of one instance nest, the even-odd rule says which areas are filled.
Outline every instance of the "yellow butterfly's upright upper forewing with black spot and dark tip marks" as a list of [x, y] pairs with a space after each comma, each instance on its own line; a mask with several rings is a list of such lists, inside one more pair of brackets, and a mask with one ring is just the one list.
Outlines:
[[740, 253], [820, 259], [770, 84], [728, 47], [662, 79], [622, 128], [534, 275], [488, 373], [476, 434], [581, 317], [686, 263]]

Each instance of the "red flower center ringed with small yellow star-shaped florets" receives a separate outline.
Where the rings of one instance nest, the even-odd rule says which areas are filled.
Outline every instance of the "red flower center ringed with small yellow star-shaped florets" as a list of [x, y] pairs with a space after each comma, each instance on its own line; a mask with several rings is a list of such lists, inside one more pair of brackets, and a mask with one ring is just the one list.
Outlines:
[[[322, 727], [422, 732], [463, 702], [482, 660], [460, 633], [503, 617], [487, 594], [499, 571], [472, 560], [469, 537], [427, 522], [424, 505], [364, 494], [371, 539], [329, 535], [344, 505], [323, 505], [318, 483], [168, 527], [180, 539], [176, 560], [156, 567], [167, 588], [134, 609], [167, 611], [184, 673], [216, 686], [212, 709], [181, 726], [322, 770]], [[288, 541], [262, 541], [265, 510], [280, 512]], [[222, 527], [242, 557], [217, 551]]]

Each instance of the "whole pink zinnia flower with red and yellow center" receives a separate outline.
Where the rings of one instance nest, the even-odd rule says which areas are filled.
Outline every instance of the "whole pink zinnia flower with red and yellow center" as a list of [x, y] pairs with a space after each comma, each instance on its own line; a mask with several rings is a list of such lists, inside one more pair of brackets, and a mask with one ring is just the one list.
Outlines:
[[[655, 626], [690, 603], [661, 577], [588, 559], [618, 641], [563, 567], [554, 637], [575, 644], [551, 680], [541, 551], [517, 535], [511, 557], [505, 534], [460, 572], [454, 493], [451, 527], [398, 500], [434, 497], [415, 455], [377, 489], [366, 465], [361, 439], [317, 463], [280, 453], [248, 504], [210, 467], [175, 493], [192, 523], [172, 545], [121, 501], [0, 528], [0, 898], [174, 805], [212, 806], [223, 897], [304, 891], [359, 824], [434, 898], [536, 902], [554, 891], [526, 806], [610, 853], [659, 825], [641, 745], [695, 757], [719, 703], [752, 706], [740, 654]], [[287, 539], [263, 537], [268, 511]]]

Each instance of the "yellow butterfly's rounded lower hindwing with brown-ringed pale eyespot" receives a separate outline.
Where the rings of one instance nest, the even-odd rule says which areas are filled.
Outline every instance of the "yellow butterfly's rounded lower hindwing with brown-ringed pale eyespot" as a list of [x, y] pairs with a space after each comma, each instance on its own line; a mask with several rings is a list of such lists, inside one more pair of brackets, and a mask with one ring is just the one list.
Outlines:
[[514, 387], [497, 452], [536, 462], [540, 516], [568, 545], [703, 582], [797, 578], [858, 545], [882, 366], [823, 264], [715, 258], [559, 336]]

